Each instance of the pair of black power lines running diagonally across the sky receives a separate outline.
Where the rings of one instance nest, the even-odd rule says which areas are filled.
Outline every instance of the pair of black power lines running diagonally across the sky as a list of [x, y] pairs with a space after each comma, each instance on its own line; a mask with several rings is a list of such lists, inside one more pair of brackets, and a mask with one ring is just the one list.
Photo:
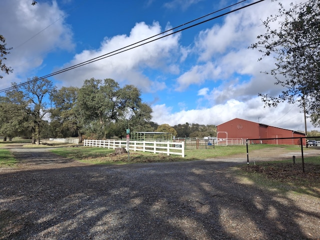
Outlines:
[[[240, 2], [243, 2], [243, 1], [245, 1], [245, 0], [242, 0], [242, 1], [240, 1]], [[166, 31], [163, 31], [163, 32], [161, 32], [161, 33], [158, 33], [158, 34], [155, 34], [155, 35], [153, 35], [153, 36], [147, 37], [147, 38], [145, 38], [145, 39], [143, 39], [143, 40], [140, 40], [140, 41], [137, 41], [137, 42], [135, 42], [135, 43], [129, 44], [129, 45], [127, 45], [127, 46], [121, 47], [121, 48], [119, 48], [119, 49], [117, 49], [117, 50], [110, 51], [110, 52], [105, 53], [105, 54], [103, 54], [103, 55], [100, 55], [100, 56], [94, 57], [94, 58], [92, 58], [92, 59], [83, 61], [83, 62], [81, 62], [81, 63], [78, 63], [78, 64], [75, 64], [75, 65], [72, 65], [72, 66], [63, 68], [63, 69], [61, 69], [61, 70], [52, 72], [52, 73], [50, 73], [50, 74], [47, 74], [47, 75], [44, 75], [44, 76], [41, 76], [41, 77], [38, 77], [38, 78], [35, 78], [35, 79], [32, 79], [32, 80], [29, 80], [29, 81], [26, 81], [26, 82], [19, 83], [19, 84], [16, 84], [16, 85], [14, 85], [14, 86], [11, 86], [11, 87], [7, 87], [7, 88], [4, 88], [4, 89], [1, 89], [0, 92], [4, 92], [4, 91], [7, 91], [7, 90], [11, 90], [11, 89], [14, 89], [14, 88], [16, 88], [16, 87], [18, 87], [18, 86], [22, 86], [22, 85], [25, 85], [25, 84], [28, 84], [28, 83], [31, 83], [31, 82], [34, 82], [34, 81], [41, 80], [41, 79], [43, 79], [43, 78], [47, 78], [47, 77], [50, 77], [50, 76], [53, 76], [53, 75], [57, 75], [57, 74], [59, 74], [59, 73], [62, 73], [62, 72], [65, 72], [65, 71], [68, 71], [68, 70], [71, 70], [71, 69], [74, 69], [74, 68], [77, 68], [77, 67], [80, 67], [80, 66], [83, 66], [83, 65], [86, 65], [86, 64], [89, 64], [89, 63], [92, 63], [92, 62], [101, 60], [101, 59], [104, 59], [104, 58], [106, 58], [106, 57], [110, 57], [110, 56], [113, 56], [113, 55], [122, 53], [122, 52], [124, 52], [124, 51], [131, 50], [131, 49], [133, 49], [133, 48], [136, 48], [136, 47], [145, 45], [145, 44], [147, 44], [147, 43], [150, 43], [150, 42], [153, 42], [153, 41], [155, 41], [155, 40], [164, 38], [164, 37], [166, 37], [166, 36], [169, 36], [169, 35], [178, 33], [178, 32], [180, 32], [180, 31], [186, 30], [186, 29], [188, 29], [188, 28], [191, 28], [191, 27], [200, 25], [200, 24], [205, 23], [205, 22], [207, 22], [207, 21], [211, 21], [211, 20], [216, 19], [216, 18], [218, 18], [218, 17], [221, 17], [221, 16], [227, 15], [227, 14], [229, 14], [229, 13], [232, 13], [232, 12], [235, 12], [235, 11], [238, 11], [238, 10], [241, 10], [241, 9], [243, 9], [243, 8], [246, 8], [246, 7], [248, 7], [248, 6], [254, 5], [254, 4], [259, 3], [259, 2], [261, 2], [261, 1], [264, 1], [264, 0], [258, 0], [258, 1], [252, 2], [252, 3], [250, 3], [250, 4], [247, 4], [247, 5], [244, 5], [244, 6], [235, 8], [235, 9], [233, 9], [233, 10], [230, 10], [230, 11], [228, 11], [228, 12], [222, 13], [222, 14], [220, 14], [220, 15], [217, 15], [217, 16], [208, 18], [208, 19], [206, 19], [206, 20], [203, 20], [203, 21], [194, 23], [194, 24], [192, 24], [192, 25], [190, 25], [190, 26], [186, 26], [186, 27], [184, 27], [184, 28], [181, 28], [181, 29], [178, 29], [178, 30], [176, 30], [176, 31], [170, 32], [170, 33], [168, 33], [168, 34], [162, 35], [162, 36], [160, 36], [160, 37], [151, 39], [151, 38], [153, 38], [153, 37], [159, 36], [159, 35], [161, 35], [161, 34], [163, 34], [163, 33], [172, 31], [172, 30], [174, 30], [174, 29], [176, 29], [176, 28], [178, 28], [178, 27], [187, 25], [187, 24], [189, 24], [189, 23], [191, 23], [191, 22], [193, 22], [193, 21], [196, 21], [196, 20], [198, 20], [198, 19], [201, 19], [201, 18], [203, 18], [203, 17], [206, 17], [206, 16], [208, 16], [208, 15], [210, 15], [210, 14], [216, 13], [216, 12], [221, 11], [221, 10], [223, 10], [223, 9], [226, 9], [226, 8], [228, 8], [228, 7], [231, 7], [231, 6], [234, 6], [234, 5], [236, 5], [236, 4], [239, 4], [240, 2], [234, 3], [234, 4], [232, 4], [232, 5], [229, 5], [229, 6], [227, 6], [227, 7], [224, 7], [224, 8], [222, 8], [222, 9], [217, 10], [217, 11], [211, 12], [211, 13], [206, 14], [206, 15], [204, 15], [204, 16], [201, 16], [201, 17], [198, 17], [198, 18], [193, 19], [193, 20], [191, 20], [191, 21], [188, 21], [188, 22], [186, 22], [186, 23], [183, 23], [183, 24], [181, 24], [181, 25], [179, 25], [179, 26], [173, 27], [173, 28], [168, 29], [168, 30], [166, 30]], [[149, 39], [151, 39], [151, 40], [149, 40]], [[149, 41], [146, 41], [146, 40], [149, 40]], [[146, 42], [143, 42], [143, 41], [146, 41]], [[138, 44], [138, 43], [140, 43], [140, 44]], [[138, 44], [138, 45], [136, 45], [136, 44]]]

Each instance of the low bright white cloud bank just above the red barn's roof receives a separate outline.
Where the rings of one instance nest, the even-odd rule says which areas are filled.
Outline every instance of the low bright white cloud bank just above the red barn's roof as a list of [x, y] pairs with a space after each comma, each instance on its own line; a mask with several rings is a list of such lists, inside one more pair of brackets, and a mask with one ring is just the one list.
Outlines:
[[[185, 122], [217, 125], [238, 117], [292, 130], [304, 130], [303, 113], [297, 105], [281, 103], [276, 108], [264, 107], [259, 97], [247, 101], [231, 98], [223, 104], [216, 104], [210, 108], [179, 112], [172, 112], [172, 108], [165, 104], [153, 105], [152, 109], [152, 121], [158, 124], [168, 123], [171, 126]], [[309, 120], [307, 125], [308, 130], [314, 128]]]

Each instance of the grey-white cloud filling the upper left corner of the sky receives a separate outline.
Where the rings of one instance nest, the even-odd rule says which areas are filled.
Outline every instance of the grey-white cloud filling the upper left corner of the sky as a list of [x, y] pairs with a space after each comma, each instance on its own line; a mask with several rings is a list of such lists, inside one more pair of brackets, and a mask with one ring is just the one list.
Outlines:
[[11, 81], [25, 81], [30, 69], [42, 67], [49, 51], [73, 49], [72, 32], [64, 15], [56, 1], [39, 1], [34, 6], [26, 0], [1, 1], [0, 33], [6, 38], [6, 47], [13, 47], [5, 64], [13, 73], [3, 77], [0, 88]]

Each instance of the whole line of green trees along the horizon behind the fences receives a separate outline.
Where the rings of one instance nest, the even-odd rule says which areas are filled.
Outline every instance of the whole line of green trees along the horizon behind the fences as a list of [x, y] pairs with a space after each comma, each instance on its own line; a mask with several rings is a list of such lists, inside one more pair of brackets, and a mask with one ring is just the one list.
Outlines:
[[[123, 138], [130, 131], [170, 132], [174, 137], [216, 136], [216, 126], [184, 123], [170, 126], [151, 121], [152, 109], [133, 85], [110, 78], [86, 79], [78, 88], [57, 88], [44, 78], [26, 84], [12, 83], [0, 96], [0, 135], [3, 140], [20, 136], [39, 144], [41, 138]], [[308, 136], [318, 136], [318, 131]]]

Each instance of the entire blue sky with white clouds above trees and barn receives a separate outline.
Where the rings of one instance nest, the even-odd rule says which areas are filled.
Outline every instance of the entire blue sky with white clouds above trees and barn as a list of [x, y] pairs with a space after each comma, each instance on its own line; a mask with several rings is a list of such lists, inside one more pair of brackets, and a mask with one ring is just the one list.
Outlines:
[[[7, 47], [13, 47], [5, 63], [14, 69], [0, 80], [0, 89], [12, 81], [44, 76], [236, 3], [37, 0], [32, 6], [31, 2], [0, 2], [0, 34], [6, 38]], [[58, 87], [80, 87], [91, 77], [113, 78], [120, 86], [134, 84], [141, 90], [142, 100], [152, 107], [152, 120], [158, 124], [219, 124], [238, 117], [304, 130], [303, 113], [296, 105], [265, 108], [257, 95], [275, 96], [281, 91], [272, 77], [260, 73], [274, 66], [272, 57], [257, 61], [260, 53], [247, 48], [264, 32], [262, 20], [277, 9], [277, 1], [265, 0], [49, 79]], [[309, 120], [307, 126], [308, 130], [319, 130]]]

